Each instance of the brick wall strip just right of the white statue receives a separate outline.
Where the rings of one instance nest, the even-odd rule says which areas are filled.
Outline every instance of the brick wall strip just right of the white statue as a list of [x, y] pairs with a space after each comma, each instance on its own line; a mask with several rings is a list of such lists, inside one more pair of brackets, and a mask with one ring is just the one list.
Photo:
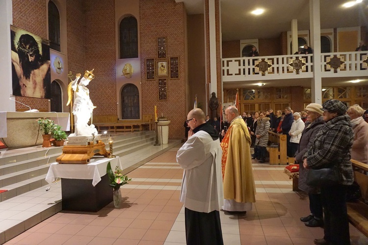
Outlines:
[[84, 1], [85, 69], [95, 69], [88, 88], [94, 115], [117, 115], [115, 0]]

